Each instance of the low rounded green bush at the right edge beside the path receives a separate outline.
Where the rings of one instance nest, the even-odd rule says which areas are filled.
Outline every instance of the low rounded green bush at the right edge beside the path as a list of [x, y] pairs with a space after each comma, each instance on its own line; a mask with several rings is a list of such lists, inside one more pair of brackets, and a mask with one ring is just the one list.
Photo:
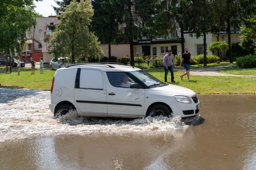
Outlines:
[[238, 57], [236, 64], [239, 68], [256, 68], [256, 55]]

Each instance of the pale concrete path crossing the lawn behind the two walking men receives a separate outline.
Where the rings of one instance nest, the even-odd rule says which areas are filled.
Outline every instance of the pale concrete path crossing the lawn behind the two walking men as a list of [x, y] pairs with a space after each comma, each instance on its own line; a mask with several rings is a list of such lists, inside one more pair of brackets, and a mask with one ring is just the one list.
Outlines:
[[[217, 66], [217, 67], [199, 68], [199, 69], [190, 68], [189, 75], [237, 76], [237, 77], [241, 77], [241, 76], [248, 76], [248, 77], [255, 76], [255, 75], [233, 75], [233, 74], [219, 73], [220, 70], [222, 70], [222, 69], [224, 69], [226, 67], [230, 67], [230, 66], [235, 66], [235, 64], [230, 64], [230, 65], [225, 65], [225, 66]], [[184, 72], [186, 72], [186, 69], [184, 69], [184, 67], [182, 69], [174, 69], [174, 70], [178, 71], [178, 72], [181, 72], [182, 74]]]

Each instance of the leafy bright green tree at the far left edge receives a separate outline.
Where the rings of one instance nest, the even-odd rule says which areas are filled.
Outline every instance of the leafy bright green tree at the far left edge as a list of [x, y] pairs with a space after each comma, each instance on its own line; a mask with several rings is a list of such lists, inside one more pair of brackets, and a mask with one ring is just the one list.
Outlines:
[[34, 8], [33, 0], [1, 0], [0, 49], [10, 54], [10, 61], [12, 60], [12, 54], [14, 54], [15, 48], [17, 49], [18, 55], [20, 55], [21, 47], [25, 45], [25, 39], [27, 39], [26, 32], [30, 32], [32, 28], [35, 29], [37, 25], [35, 16], [38, 14]]

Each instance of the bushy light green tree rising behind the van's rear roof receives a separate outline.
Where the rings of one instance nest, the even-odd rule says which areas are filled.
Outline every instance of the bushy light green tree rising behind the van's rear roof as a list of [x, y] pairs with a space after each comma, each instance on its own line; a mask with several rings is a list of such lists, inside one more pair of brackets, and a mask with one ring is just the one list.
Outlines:
[[58, 16], [60, 23], [57, 25], [54, 36], [50, 40], [49, 54], [53, 53], [56, 58], [69, 57], [72, 64], [81, 53], [96, 57], [97, 54], [104, 56], [98, 38], [89, 31], [93, 9], [91, 1], [72, 1], [64, 12]]

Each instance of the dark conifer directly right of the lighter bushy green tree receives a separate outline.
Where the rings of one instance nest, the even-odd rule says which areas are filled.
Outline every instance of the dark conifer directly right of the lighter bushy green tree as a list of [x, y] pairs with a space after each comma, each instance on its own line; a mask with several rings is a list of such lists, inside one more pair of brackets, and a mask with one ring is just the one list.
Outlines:
[[91, 22], [90, 30], [99, 37], [99, 41], [108, 44], [108, 61], [111, 57], [111, 43], [119, 44], [120, 35], [119, 23], [116, 22], [119, 17], [114, 10], [111, 9], [109, 0], [93, 0], [92, 1], [94, 15]]

